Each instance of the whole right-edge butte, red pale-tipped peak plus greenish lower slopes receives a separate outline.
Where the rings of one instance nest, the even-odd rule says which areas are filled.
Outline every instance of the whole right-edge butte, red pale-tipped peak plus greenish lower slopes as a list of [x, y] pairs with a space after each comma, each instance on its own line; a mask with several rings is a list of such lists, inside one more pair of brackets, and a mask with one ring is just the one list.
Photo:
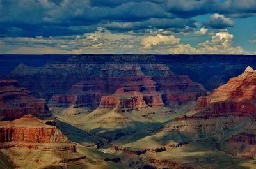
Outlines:
[[[198, 99], [198, 107], [163, 128], [182, 140], [214, 138], [221, 150], [255, 158], [256, 71], [248, 67]], [[177, 141], [177, 140], [176, 140]]]

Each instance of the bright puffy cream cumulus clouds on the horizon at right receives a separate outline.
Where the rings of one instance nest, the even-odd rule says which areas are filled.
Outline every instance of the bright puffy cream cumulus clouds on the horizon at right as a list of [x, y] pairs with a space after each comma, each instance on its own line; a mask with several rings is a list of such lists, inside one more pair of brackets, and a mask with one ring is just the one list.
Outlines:
[[[206, 34], [206, 33], [205, 33]], [[233, 47], [233, 35], [227, 30], [212, 34], [211, 40], [199, 43], [196, 47], [180, 43], [175, 36], [148, 36], [141, 41], [146, 53], [159, 54], [248, 54], [242, 47]]]

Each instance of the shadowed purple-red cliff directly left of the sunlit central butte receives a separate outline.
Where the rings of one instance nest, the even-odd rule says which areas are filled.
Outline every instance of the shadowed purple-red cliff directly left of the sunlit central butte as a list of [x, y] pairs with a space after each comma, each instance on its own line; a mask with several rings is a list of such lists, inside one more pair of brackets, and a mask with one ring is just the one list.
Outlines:
[[113, 94], [125, 82], [125, 77], [86, 77], [72, 85], [65, 94], [54, 94], [49, 100], [51, 109], [58, 107], [84, 107], [94, 110], [98, 107], [102, 96]]

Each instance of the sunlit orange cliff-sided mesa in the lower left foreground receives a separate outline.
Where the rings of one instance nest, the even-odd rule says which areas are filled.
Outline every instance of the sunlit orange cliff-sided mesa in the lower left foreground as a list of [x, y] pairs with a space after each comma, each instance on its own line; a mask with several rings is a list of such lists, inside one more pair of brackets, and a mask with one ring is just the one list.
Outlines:
[[[50, 125], [49, 125], [50, 124]], [[29, 114], [14, 121], [0, 121], [0, 148], [24, 147], [28, 149], [58, 149], [76, 152], [76, 144], [70, 142], [53, 121], [37, 119]]]

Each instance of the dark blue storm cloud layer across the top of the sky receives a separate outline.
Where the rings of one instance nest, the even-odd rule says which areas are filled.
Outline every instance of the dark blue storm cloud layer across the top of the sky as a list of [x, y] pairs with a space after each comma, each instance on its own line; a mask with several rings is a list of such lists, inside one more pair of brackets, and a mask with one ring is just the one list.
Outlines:
[[[250, 17], [255, 0], [0, 0], [0, 36], [67, 36], [105, 27], [112, 31], [193, 31], [193, 17], [220, 13]], [[224, 20], [225, 21], [225, 20]], [[221, 18], [205, 26], [234, 26]]]

